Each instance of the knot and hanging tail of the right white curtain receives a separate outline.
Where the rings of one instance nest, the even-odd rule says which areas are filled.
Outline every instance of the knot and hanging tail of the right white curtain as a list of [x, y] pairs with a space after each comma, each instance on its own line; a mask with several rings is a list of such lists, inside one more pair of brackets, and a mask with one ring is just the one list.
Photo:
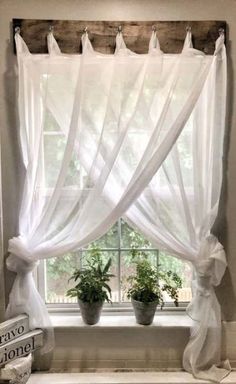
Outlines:
[[193, 299], [186, 310], [193, 323], [183, 367], [194, 377], [215, 383], [230, 371], [229, 364], [220, 363], [221, 312], [214, 290], [220, 284], [226, 265], [225, 252], [218, 239], [210, 235], [202, 240], [194, 263]]

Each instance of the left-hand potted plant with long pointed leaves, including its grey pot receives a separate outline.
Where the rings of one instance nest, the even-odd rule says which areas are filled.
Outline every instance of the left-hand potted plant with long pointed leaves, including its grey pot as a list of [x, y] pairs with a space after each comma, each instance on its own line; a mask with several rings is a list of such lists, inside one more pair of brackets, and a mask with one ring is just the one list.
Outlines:
[[76, 269], [69, 279], [77, 284], [66, 295], [78, 298], [81, 316], [86, 324], [96, 324], [104, 302], [111, 302], [111, 288], [108, 283], [114, 275], [109, 273], [110, 267], [111, 258], [104, 265], [100, 248], [91, 248], [86, 266]]

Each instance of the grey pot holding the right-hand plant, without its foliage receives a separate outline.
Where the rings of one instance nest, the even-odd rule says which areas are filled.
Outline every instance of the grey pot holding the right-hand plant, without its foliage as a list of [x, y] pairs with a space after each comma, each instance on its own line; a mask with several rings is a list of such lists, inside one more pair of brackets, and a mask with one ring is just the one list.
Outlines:
[[152, 324], [158, 301], [143, 303], [142, 301], [136, 301], [131, 298], [131, 302], [134, 308], [136, 322], [142, 325]]

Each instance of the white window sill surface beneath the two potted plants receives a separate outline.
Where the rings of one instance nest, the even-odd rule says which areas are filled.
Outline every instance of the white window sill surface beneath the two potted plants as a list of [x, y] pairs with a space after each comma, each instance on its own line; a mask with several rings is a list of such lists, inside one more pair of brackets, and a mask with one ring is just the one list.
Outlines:
[[86, 325], [83, 323], [81, 316], [75, 315], [51, 315], [51, 320], [54, 328], [137, 328], [137, 327], [174, 327], [174, 328], [189, 328], [192, 320], [185, 312], [159, 312], [156, 314], [151, 325], [144, 326], [136, 323], [134, 315], [104, 315], [95, 325]]

